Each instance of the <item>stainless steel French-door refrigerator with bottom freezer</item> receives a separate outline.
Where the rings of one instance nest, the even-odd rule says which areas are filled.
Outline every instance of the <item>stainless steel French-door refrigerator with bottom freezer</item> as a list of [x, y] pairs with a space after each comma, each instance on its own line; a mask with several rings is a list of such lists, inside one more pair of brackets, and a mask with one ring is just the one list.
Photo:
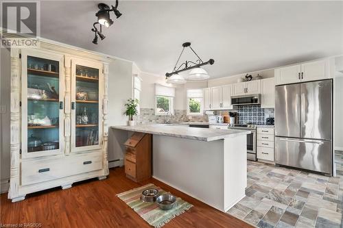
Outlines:
[[275, 162], [332, 175], [332, 79], [275, 88]]

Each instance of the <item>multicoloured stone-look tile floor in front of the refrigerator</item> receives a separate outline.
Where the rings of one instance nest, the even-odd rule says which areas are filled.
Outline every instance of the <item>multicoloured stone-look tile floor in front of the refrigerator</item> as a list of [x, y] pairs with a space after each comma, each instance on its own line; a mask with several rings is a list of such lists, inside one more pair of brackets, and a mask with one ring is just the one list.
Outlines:
[[337, 152], [337, 174], [341, 177], [248, 161], [246, 197], [228, 214], [263, 228], [341, 227], [343, 152]]

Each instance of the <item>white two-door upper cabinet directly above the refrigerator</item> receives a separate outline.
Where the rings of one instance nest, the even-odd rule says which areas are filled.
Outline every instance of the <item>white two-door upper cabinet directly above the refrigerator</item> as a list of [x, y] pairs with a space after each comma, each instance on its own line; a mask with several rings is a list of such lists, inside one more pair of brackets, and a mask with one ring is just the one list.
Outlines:
[[318, 60], [277, 68], [274, 74], [276, 85], [329, 79], [329, 60]]

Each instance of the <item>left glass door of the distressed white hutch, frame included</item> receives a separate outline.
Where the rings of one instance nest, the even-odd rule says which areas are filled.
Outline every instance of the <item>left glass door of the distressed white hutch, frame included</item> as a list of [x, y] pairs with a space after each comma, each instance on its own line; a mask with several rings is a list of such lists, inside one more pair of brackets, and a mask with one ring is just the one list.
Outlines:
[[[23, 138], [24, 157], [50, 155], [61, 152], [60, 120], [63, 94], [60, 56], [56, 60], [45, 54], [27, 53], [23, 56]], [[48, 55], [49, 56], [49, 55]], [[26, 96], [25, 96], [26, 94]]]

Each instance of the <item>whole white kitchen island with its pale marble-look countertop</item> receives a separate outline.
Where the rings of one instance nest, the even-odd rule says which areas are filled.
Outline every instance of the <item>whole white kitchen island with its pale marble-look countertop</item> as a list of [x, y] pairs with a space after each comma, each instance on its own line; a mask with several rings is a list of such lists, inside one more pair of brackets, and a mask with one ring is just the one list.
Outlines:
[[245, 196], [246, 134], [250, 131], [162, 124], [111, 128], [118, 144], [135, 131], [152, 134], [155, 179], [222, 212]]

